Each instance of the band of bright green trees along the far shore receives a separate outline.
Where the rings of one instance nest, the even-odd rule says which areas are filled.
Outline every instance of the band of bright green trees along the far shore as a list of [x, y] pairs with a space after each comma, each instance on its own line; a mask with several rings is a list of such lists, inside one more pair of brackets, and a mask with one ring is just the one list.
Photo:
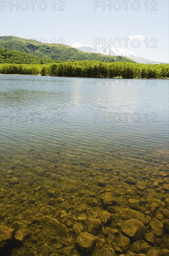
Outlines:
[[169, 78], [169, 64], [65, 61], [47, 64], [1, 64], [1, 74], [41, 74], [73, 77]]

